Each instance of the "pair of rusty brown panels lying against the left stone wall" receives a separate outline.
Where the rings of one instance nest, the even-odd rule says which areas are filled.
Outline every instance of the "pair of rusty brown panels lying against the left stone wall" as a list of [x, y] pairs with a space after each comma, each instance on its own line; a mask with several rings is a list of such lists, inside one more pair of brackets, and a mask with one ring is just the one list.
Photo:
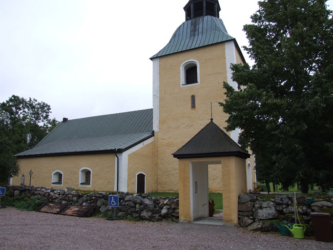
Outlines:
[[77, 217], [89, 217], [95, 210], [95, 206], [69, 205], [62, 203], [45, 203], [36, 212], [70, 215]]

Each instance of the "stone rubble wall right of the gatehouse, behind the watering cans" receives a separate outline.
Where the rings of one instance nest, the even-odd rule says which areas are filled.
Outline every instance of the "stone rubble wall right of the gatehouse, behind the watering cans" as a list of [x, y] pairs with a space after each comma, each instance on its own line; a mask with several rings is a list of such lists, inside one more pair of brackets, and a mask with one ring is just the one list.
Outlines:
[[[333, 195], [330, 193], [329, 195]], [[313, 212], [333, 212], [331, 198], [315, 198], [313, 203], [310, 203], [311, 197], [303, 197], [296, 195], [297, 211], [302, 224], [305, 224], [305, 235], [313, 235], [311, 227], [311, 216]], [[284, 194], [275, 196], [266, 196], [274, 198], [265, 198], [265, 195], [253, 193], [241, 194], [238, 197], [238, 222], [242, 227], [249, 230], [271, 232], [278, 231], [275, 221], [278, 225], [281, 221], [287, 221], [295, 224], [294, 210], [294, 194]], [[320, 196], [324, 197], [324, 196]], [[306, 202], [308, 200], [308, 202]], [[331, 217], [333, 225], [333, 218]]]

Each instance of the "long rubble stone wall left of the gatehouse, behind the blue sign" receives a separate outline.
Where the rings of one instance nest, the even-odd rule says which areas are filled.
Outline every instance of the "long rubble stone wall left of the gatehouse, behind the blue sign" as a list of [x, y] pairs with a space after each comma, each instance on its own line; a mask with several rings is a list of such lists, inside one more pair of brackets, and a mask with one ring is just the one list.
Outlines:
[[72, 188], [50, 189], [34, 186], [10, 186], [6, 195], [32, 195], [38, 200], [50, 203], [68, 203], [73, 205], [95, 205], [101, 213], [116, 210], [118, 217], [141, 218], [149, 221], [179, 219], [179, 199], [177, 197], [151, 197], [119, 192], [119, 207], [109, 207], [109, 195], [116, 193], [80, 193]]

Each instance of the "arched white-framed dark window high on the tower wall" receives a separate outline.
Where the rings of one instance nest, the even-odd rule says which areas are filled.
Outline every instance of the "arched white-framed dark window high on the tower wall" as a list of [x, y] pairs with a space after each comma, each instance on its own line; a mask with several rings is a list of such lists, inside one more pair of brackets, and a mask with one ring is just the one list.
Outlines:
[[199, 62], [195, 59], [184, 61], [180, 67], [181, 86], [200, 84]]

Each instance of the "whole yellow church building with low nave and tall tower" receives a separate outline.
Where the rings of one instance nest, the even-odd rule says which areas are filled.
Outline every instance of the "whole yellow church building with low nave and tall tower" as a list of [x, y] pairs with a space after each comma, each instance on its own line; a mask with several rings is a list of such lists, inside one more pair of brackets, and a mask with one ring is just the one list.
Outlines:
[[[36, 147], [16, 155], [21, 172], [12, 184], [29, 184], [32, 170], [34, 186], [178, 192], [177, 157], [185, 157], [190, 154], [187, 150], [195, 151], [202, 143], [204, 148], [220, 151], [209, 152], [208, 157], [219, 154], [242, 158], [247, 190], [253, 190], [254, 157], [236, 143], [239, 130], [223, 129], [228, 116], [218, 104], [225, 99], [224, 81], [237, 90], [231, 64], [245, 63], [236, 39], [227, 33], [219, 18], [220, 10], [218, 0], [190, 0], [186, 4], [185, 22], [150, 58], [152, 109], [64, 118]], [[211, 140], [220, 143], [211, 147], [203, 128], [217, 131], [221, 136], [218, 138], [228, 138]], [[179, 151], [185, 144], [186, 150]], [[197, 153], [195, 157], [199, 157]], [[207, 169], [210, 191], [223, 193], [221, 164], [212, 161]], [[237, 182], [237, 175], [235, 178]]]

